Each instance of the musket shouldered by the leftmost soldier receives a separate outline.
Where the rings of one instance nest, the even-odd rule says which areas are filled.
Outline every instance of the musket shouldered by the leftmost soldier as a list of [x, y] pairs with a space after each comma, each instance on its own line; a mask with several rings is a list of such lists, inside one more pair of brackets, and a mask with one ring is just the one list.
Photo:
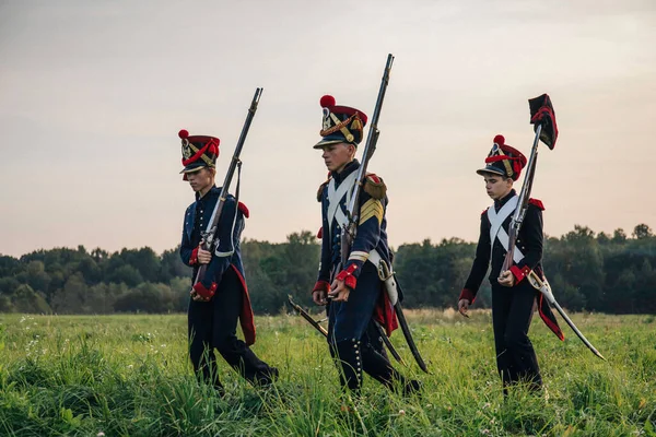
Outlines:
[[[257, 105], [262, 95], [263, 88], [256, 88], [255, 95], [253, 96], [253, 101], [250, 102], [250, 107], [248, 108], [248, 114], [246, 115], [246, 121], [244, 122], [244, 127], [242, 128], [242, 133], [239, 134], [239, 139], [237, 141], [237, 145], [235, 146], [235, 152], [233, 153], [232, 161], [230, 162], [230, 166], [227, 167], [227, 173], [225, 174], [225, 178], [223, 180], [223, 187], [221, 187], [221, 194], [219, 196], [219, 201], [214, 205], [214, 211], [212, 212], [212, 216], [210, 222], [208, 223], [208, 227], [204, 232], [201, 232], [201, 249], [203, 250], [213, 250], [214, 246], [214, 237], [216, 234], [216, 228], [219, 227], [219, 220], [221, 218], [221, 212], [223, 211], [223, 206], [225, 204], [225, 200], [227, 199], [227, 192], [230, 189], [230, 185], [232, 182], [233, 176], [237, 167], [242, 167], [242, 161], [239, 160], [239, 155], [242, 154], [242, 147], [244, 147], [244, 142], [246, 141], [246, 135], [248, 134], [248, 130], [250, 129], [250, 122], [253, 121], [253, 117], [255, 117], [255, 113], [257, 111]], [[238, 190], [239, 184], [237, 184]], [[236, 212], [235, 212], [236, 213]], [[200, 264], [198, 269], [198, 274], [196, 275], [195, 284], [200, 282], [206, 271], [208, 270], [208, 264]]]

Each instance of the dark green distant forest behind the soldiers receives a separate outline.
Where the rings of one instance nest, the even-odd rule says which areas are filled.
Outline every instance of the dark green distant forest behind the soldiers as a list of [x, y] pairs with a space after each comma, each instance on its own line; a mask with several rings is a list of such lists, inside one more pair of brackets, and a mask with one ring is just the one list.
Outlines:
[[[395, 269], [407, 308], [453, 307], [469, 274], [476, 244], [430, 239], [395, 250]], [[278, 314], [291, 294], [312, 305], [319, 240], [304, 231], [286, 243], [242, 243], [246, 280], [258, 314]], [[656, 314], [656, 236], [645, 224], [631, 236], [596, 234], [586, 226], [546, 237], [544, 271], [559, 303], [574, 311]], [[109, 253], [56, 248], [20, 259], [0, 256], [0, 312], [180, 312], [189, 300], [191, 270], [177, 248], [149, 247]], [[476, 307], [490, 305], [488, 282]]]

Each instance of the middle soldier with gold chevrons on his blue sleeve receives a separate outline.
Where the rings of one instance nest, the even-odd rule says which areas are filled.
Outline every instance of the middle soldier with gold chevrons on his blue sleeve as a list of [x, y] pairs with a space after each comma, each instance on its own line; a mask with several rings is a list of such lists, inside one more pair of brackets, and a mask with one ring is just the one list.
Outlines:
[[[347, 205], [355, 187], [360, 163], [354, 158], [362, 141], [366, 115], [348, 107], [336, 106], [332, 96], [320, 101], [324, 108], [323, 137], [314, 149], [323, 150], [323, 158], [330, 170], [328, 180], [318, 190], [321, 202], [323, 226], [321, 262], [313, 300], [328, 307], [328, 344], [331, 356], [338, 361], [340, 382], [358, 393], [362, 370], [388, 388], [399, 383], [403, 393], [419, 389], [419, 382], [407, 381], [387, 358], [377, 327], [377, 320], [387, 334], [397, 327], [377, 263], [390, 263], [387, 246], [385, 210], [387, 197], [383, 179], [368, 174], [360, 197], [358, 232], [352, 241], [348, 262], [336, 271], [341, 256], [341, 226], [345, 223]], [[341, 367], [341, 368], [340, 368]]]

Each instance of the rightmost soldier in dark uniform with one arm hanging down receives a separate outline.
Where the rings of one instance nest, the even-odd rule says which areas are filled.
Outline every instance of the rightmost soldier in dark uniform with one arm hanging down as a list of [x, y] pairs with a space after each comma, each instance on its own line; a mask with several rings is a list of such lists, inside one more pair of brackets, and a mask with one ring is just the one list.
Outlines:
[[505, 144], [502, 135], [494, 137], [494, 145], [485, 160], [487, 166], [477, 173], [485, 180], [488, 196], [494, 204], [481, 215], [481, 232], [476, 258], [465, 288], [460, 293], [458, 310], [467, 314], [483, 281], [488, 267], [492, 265], [492, 323], [496, 366], [503, 380], [504, 393], [511, 383], [524, 381], [537, 390], [542, 386], [538, 358], [528, 339], [528, 329], [538, 297], [540, 316], [557, 335], [560, 328], [549, 305], [542, 305], [541, 295], [526, 276], [531, 270], [541, 274], [542, 262], [542, 202], [530, 199], [526, 216], [517, 237], [514, 263], [501, 271], [508, 247], [508, 227], [518, 196], [513, 184], [526, 165], [526, 157]]

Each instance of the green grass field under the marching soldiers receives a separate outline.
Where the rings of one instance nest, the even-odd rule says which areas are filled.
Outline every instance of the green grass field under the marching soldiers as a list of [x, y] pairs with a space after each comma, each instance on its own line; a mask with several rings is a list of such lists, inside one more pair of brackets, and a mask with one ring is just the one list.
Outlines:
[[410, 311], [432, 375], [397, 345], [424, 383], [405, 399], [365, 378], [356, 413], [342, 411], [325, 340], [297, 316], [256, 318], [255, 352], [278, 366], [258, 391], [221, 362], [229, 393], [196, 382], [186, 316], [0, 315], [2, 436], [656, 436], [656, 318], [574, 315], [608, 358], [563, 324], [560, 342], [534, 318], [548, 399], [495, 373], [489, 311]]

